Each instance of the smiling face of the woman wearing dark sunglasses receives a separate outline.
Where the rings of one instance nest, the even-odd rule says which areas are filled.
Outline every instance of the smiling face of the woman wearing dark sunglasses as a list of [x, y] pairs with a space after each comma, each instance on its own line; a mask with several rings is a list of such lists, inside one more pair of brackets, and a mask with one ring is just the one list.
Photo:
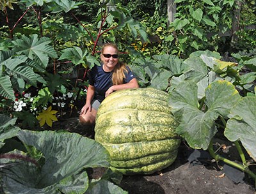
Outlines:
[[[112, 71], [116, 64], [118, 63], [118, 58], [113, 58], [112, 55], [116, 55], [118, 51], [116, 50], [116, 48], [113, 48], [111, 46], [109, 47], [105, 47], [102, 54], [100, 54], [101, 57], [101, 61], [103, 62], [103, 70], [110, 72]], [[104, 57], [103, 54], [110, 54], [111, 56], [108, 57]]]

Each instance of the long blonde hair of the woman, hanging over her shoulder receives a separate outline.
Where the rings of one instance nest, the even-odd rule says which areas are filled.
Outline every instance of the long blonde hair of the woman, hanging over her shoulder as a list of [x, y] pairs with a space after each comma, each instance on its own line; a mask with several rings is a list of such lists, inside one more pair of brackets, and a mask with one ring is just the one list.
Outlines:
[[[104, 48], [106, 47], [113, 47], [116, 49], [116, 52], [118, 54], [118, 48], [115, 44], [113, 43], [106, 43], [102, 46], [102, 49], [101, 49], [101, 53], [103, 53], [104, 51]], [[128, 70], [127, 70], [127, 64], [124, 63], [124, 62], [120, 62], [118, 60], [118, 63], [116, 64], [114, 70], [113, 70], [113, 75], [112, 75], [112, 83], [113, 85], [119, 85], [119, 84], [123, 84], [124, 83], [124, 78], [125, 78], [125, 73], [124, 72], [127, 72], [128, 73]]]

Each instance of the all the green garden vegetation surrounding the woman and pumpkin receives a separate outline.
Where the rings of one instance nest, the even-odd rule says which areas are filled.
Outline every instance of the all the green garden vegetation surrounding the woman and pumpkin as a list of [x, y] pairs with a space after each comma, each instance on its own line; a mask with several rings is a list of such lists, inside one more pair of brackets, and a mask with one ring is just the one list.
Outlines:
[[[127, 193], [102, 145], [44, 130], [77, 116], [88, 71], [108, 41], [140, 87], [168, 94], [185, 144], [256, 183], [255, 1], [174, 2], [170, 24], [166, 1], [0, 2], [1, 192]], [[218, 154], [216, 137], [233, 142], [241, 161]], [[108, 170], [90, 179], [88, 168], [97, 167]]]

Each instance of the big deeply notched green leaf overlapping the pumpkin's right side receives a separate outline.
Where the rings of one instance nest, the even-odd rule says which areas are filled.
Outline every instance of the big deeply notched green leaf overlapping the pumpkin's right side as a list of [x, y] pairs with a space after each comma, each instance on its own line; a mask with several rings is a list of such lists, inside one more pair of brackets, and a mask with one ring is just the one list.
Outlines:
[[198, 87], [195, 82], [180, 82], [170, 93], [169, 103], [173, 114], [180, 120], [177, 133], [189, 146], [207, 149], [216, 133], [215, 121], [227, 117], [229, 110], [241, 98], [234, 86], [227, 81], [212, 82], [205, 90], [205, 112], [198, 110]]

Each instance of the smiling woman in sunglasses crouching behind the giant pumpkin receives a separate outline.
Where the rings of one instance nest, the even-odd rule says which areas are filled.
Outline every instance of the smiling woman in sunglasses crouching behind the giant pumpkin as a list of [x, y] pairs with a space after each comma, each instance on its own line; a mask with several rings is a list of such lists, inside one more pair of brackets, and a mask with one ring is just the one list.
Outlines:
[[138, 88], [138, 82], [129, 67], [118, 60], [118, 48], [112, 43], [103, 45], [101, 66], [94, 66], [89, 73], [86, 103], [81, 110], [81, 124], [95, 124], [100, 103], [114, 91]]

